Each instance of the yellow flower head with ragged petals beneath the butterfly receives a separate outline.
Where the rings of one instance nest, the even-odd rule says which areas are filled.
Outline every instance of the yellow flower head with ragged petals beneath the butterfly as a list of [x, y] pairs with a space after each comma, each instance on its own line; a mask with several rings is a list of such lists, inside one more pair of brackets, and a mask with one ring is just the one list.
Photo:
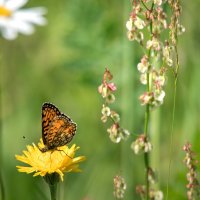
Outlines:
[[75, 144], [69, 148], [68, 146], [58, 147], [56, 150], [41, 152], [39, 148], [44, 147], [42, 139], [38, 143], [28, 145], [27, 150], [23, 151], [23, 155], [16, 155], [16, 159], [30, 166], [17, 166], [19, 172], [27, 174], [35, 172], [33, 176], [42, 176], [57, 173], [63, 181], [64, 172], [80, 172], [79, 163], [84, 161], [85, 156], [75, 156], [76, 150], [79, 149]]

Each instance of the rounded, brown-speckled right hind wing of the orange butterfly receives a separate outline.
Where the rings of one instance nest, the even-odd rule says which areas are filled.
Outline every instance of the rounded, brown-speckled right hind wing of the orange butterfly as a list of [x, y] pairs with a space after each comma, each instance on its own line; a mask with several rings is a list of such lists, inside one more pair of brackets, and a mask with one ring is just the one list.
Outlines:
[[55, 116], [51, 121], [46, 141], [48, 149], [69, 143], [76, 133], [76, 124], [64, 114]]

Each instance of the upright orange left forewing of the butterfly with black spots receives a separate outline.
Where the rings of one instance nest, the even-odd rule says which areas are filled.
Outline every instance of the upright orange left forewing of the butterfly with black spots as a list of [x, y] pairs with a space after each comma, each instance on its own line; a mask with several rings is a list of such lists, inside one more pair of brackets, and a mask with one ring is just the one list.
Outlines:
[[53, 119], [61, 115], [59, 109], [51, 103], [44, 103], [42, 106], [42, 140], [46, 145], [48, 143], [48, 130]]

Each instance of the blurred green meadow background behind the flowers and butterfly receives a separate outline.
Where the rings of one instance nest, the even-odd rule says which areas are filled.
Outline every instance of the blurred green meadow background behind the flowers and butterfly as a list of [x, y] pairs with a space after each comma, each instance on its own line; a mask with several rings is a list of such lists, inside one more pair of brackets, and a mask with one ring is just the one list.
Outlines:
[[[186, 33], [179, 39], [181, 69], [177, 88], [169, 199], [186, 199], [186, 168], [182, 146], [193, 144], [200, 159], [200, 1], [183, 2], [182, 24]], [[130, 149], [133, 134], [142, 133], [144, 108], [138, 96], [137, 63], [139, 45], [129, 42], [125, 23], [131, 10], [129, 1], [111, 0], [31, 0], [27, 7], [45, 6], [48, 25], [37, 27], [31, 36], [15, 41], [0, 39], [1, 65], [1, 171], [7, 200], [49, 199], [41, 177], [19, 173], [21, 154], [27, 144], [41, 137], [41, 106], [52, 102], [78, 124], [72, 143], [85, 155], [82, 173], [66, 174], [60, 184], [60, 199], [114, 199], [113, 177], [122, 174], [127, 182], [124, 199], [139, 199], [135, 186], [144, 183], [143, 156]], [[132, 135], [126, 142], [113, 144], [107, 126], [100, 121], [102, 99], [97, 92], [108, 66], [118, 86], [116, 109], [122, 126]], [[170, 131], [173, 105], [173, 75], [168, 74], [163, 106], [152, 113], [154, 149], [152, 165], [164, 194], [168, 180]], [[25, 138], [23, 137], [25, 136]], [[72, 144], [71, 143], [71, 144]], [[71, 145], [70, 144], [70, 145]]]

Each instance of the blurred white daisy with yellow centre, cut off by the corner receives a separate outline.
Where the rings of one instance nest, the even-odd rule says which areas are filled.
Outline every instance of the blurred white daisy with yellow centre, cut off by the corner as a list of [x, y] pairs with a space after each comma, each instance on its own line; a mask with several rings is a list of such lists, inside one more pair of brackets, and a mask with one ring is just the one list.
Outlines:
[[7, 40], [13, 40], [18, 33], [34, 33], [34, 25], [47, 23], [43, 7], [20, 9], [28, 0], [0, 0], [0, 32]]

